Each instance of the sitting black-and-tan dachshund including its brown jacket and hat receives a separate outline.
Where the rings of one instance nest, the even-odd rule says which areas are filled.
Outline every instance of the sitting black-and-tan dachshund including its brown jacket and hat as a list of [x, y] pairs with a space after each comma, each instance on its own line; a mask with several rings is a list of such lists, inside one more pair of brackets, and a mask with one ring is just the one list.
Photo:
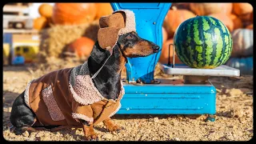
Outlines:
[[121, 106], [121, 71], [126, 58], [148, 56], [159, 49], [138, 37], [134, 25], [130, 10], [101, 18], [98, 42], [88, 61], [30, 82], [12, 107], [10, 122], [15, 134], [37, 126], [82, 126], [86, 139], [92, 140], [97, 139], [93, 126], [98, 122], [109, 131], [121, 130], [110, 117]]

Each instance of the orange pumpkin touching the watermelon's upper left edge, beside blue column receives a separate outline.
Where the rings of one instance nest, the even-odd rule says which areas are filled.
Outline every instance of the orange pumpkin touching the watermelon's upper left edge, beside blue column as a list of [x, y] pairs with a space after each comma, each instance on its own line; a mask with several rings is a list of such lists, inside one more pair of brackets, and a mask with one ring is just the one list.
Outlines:
[[177, 27], [186, 19], [194, 18], [196, 15], [193, 14], [190, 10], [177, 10], [177, 7], [172, 7], [172, 10], [169, 10], [166, 14], [165, 21], [163, 26], [165, 27], [167, 34], [170, 38], [174, 37], [174, 32]]

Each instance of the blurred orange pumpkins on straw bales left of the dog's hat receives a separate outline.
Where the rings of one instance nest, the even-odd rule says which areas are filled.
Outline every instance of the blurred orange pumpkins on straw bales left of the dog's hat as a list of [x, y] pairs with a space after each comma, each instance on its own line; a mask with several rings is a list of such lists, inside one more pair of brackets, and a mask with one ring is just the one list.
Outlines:
[[[104, 15], [112, 14], [110, 3], [47, 3], [38, 8], [41, 15], [34, 19], [34, 29], [43, 30], [50, 26], [74, 26], [98, 20]], [[78, 58], [88, 57], [93, 49], [94, 41], [82, 37], [74, 40], [68, 46], [68, 51], [76, 54]]]

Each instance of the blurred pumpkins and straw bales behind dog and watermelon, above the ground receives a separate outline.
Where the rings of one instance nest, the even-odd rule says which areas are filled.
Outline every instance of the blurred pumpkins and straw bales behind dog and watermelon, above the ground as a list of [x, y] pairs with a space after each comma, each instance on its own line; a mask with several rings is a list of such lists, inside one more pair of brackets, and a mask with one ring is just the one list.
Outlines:
[[[4, 66], [61, 63], [76, 66], [90, 56], [97, 41], [98, 19], [113, 12], [110, 3], [7, 3], [3, 7]], [[249, 3], [172, 3], [162, 26], [162, 54], [178, 25], [196, 15], [222, 21], [233, 38], [233, 52], [226, 65], [253, 74], [253, 7]], [[170, 50], [170, 59], [173, 52]], [[177, 55], [176, 63], [179, 61]]]

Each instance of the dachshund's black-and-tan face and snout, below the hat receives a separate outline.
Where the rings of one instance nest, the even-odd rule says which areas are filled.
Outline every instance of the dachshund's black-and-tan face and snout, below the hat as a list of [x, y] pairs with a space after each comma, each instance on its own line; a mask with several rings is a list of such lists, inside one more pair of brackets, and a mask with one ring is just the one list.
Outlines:
[[146, 57], [159, 50], [158, 45], [140, 38], [136, 32], [120, 35], [117, 44], [123, 56], [128, 58]]

